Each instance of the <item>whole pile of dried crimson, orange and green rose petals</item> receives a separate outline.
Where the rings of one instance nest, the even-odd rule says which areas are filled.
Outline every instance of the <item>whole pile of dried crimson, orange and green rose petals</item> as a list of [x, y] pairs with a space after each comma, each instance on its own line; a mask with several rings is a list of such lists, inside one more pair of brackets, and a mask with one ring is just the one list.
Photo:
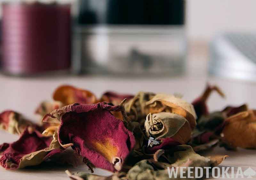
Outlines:
[[113, 172], [101, 177], [66, 171], [77, 180], [169, 179], [167, 167], [217, 166], [226, 156], [197, 153], [218, 144], [256, 148], [256, 110], [244, 104], [209, 112], [206, 101], [212, 91], [224, 97], [217, 86], [207, 85], [190, 104], [168, 94], [105, 92], [97, 98], [88, 90], [60, 86], [52, 102], [36, 108], [41, 123], [11, 110], [0, 114], [0, 128], [20, 135], [0, 145], [0, 164], [17, 169], [48, 160]]

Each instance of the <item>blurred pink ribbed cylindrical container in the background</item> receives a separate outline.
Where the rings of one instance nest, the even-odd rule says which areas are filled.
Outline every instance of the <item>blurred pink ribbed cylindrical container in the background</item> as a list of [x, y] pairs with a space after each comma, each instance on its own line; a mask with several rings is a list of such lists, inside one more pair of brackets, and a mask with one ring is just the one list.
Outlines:
[[2, 5], [2, 71], [31, 75], [70, 68], [70, 5]]

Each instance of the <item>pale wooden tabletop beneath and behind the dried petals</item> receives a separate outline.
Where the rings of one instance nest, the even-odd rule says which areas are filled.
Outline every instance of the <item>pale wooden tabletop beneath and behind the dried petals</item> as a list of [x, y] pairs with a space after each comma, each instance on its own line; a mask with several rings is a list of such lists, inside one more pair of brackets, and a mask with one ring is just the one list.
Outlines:
[[[188, 56], [188, 72], [181, 77], [164, 78], [114, 78], [114, 77], [41, 77], [41, 78], [14, 78], [0, 75], [0, 111], [12, 109], [25, 114], [35, 122], [38, 118], [34, 115], [36, 106], [43, 100], [51, 100], [53, 90], [61, 84], [71, 84], [92, 90], [100, 96], [106, 90], [115, 90], [124, 93], [136, 93], [140, 90], [181, 93], [184, 99], [191, 102], [203, 91], [206, 82], [218, 84], [226, 93], [226, 99], [221, 99], [217, 94], [212, 94], [208, 104], [211, 111], [220, 110], [227, 105], [248, 103], [249, 107], [256, 109], [255, 92], [256, 84], [236, 80], [221, 79], [207, 76], [207, 48], [194, 46]], [[12, 142], [18, 136], [0, 131], [0, 143]], [[215, 148], [207, 155], [229, 155], [221, 166], [242, 167], [243, 170], [251, 167], [256, 169], [256, 150], [238, 149], [237, 152], [226, 151], [224, 148]], [[0, 168], [0, 179], [68, 179], [65, 170], [76, 169], [53, 166], [49, 163], [37, 167], [4, 170]], [[256, 178], [256, 177], [254, 177]]]

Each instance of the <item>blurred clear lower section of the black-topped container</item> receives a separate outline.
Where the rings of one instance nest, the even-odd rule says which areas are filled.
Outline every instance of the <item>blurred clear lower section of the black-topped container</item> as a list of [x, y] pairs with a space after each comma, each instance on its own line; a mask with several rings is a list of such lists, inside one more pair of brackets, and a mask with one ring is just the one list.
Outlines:
[[90, 74], [184, 72], [184, 26], [101, 25], [74, 29], [73, 70]]

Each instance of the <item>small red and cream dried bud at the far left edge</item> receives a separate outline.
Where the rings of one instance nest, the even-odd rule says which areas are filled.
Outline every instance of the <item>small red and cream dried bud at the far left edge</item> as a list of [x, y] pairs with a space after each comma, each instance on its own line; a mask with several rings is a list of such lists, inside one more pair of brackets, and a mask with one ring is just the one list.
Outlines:
[[20, 113], [11, 110], [4, 111], [0, 114], [0, 128], [12, 134], [21, 134], [29, 127], [32, 132], [34, 129], [40, 130], [41, 128], [25, 119]]

